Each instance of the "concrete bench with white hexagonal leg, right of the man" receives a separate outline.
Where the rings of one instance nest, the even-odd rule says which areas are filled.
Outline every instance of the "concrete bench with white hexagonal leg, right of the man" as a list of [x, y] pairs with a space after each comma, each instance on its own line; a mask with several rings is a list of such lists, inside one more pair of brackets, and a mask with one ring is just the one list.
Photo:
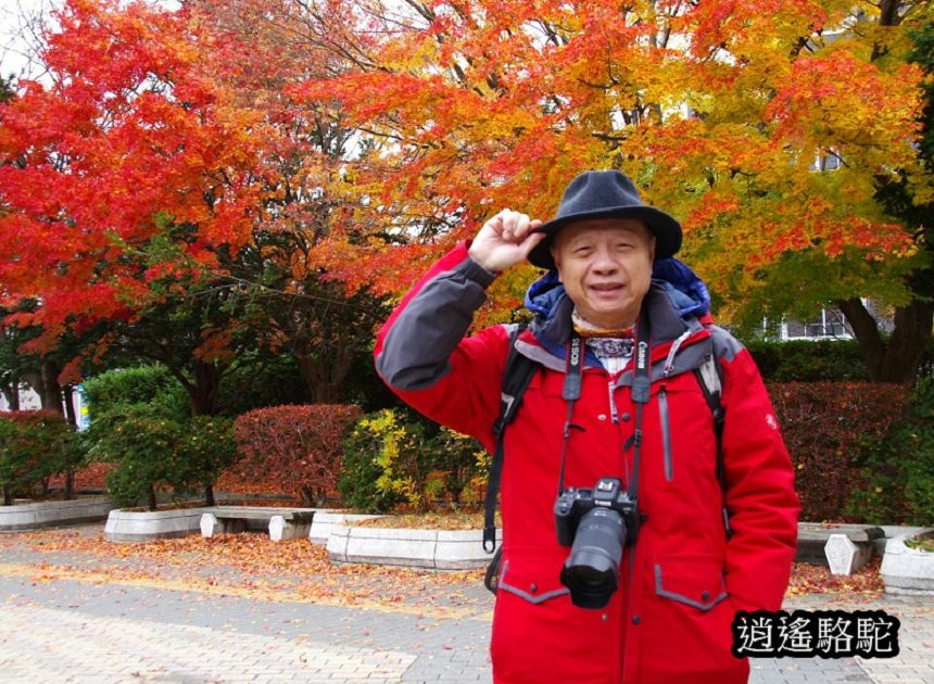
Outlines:
[[833, 574], [853, 574], [872, 558], [882, 528], [866, 524], [798, 523], [795, 560], [830, 566]]

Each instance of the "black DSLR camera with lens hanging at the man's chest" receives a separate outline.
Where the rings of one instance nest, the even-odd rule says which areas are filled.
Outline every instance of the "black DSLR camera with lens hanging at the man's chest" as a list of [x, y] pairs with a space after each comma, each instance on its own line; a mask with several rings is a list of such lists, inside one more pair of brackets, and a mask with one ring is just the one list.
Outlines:
[[555, 502], [558, 544], [571, 552], [561, 584], [580, 608], [603, 608], [619, 586], [622, 548], [635, 541], [639, 507], [617, 478], [601, 478], [592, 490], [565, 490]]

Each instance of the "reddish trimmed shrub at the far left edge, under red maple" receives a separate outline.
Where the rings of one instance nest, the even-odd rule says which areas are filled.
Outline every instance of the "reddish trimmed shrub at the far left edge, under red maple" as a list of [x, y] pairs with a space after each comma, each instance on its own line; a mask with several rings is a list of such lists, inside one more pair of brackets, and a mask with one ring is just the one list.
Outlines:
[[0, 413], [0, 487], [3, 505], [17, 494], [33, 494], [37, 484], [72, 470], [81, 461], [78, 435], [52, 410]]

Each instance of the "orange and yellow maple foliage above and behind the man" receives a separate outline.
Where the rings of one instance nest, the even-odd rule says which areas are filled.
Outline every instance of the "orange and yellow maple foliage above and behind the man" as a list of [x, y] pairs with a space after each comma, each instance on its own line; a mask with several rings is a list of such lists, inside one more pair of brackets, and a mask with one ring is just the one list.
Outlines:
[[[720, 320], [836, 303], [874, 380], [913, 377], [932, 322], [911, 281], [924, 225], [878, 193], [901, 180], [909, 205], [932, 197], [909, 59], [929, 3], [350, 5], [377, 40], [354, 43], [353, 72], [296, 90], [368, 143], [348, 159], [358, 220], [319, 248], [336, 273], [357, 277], [353, 254], [399, 293], [500, 207], [547, 218], [571, 177], [620, 168], [683, 220]], [[494, 301], [516, 306], [531, 277], [501, 279]], [[894, 307], [888, 346], [857, 325], [859, 297]]]

